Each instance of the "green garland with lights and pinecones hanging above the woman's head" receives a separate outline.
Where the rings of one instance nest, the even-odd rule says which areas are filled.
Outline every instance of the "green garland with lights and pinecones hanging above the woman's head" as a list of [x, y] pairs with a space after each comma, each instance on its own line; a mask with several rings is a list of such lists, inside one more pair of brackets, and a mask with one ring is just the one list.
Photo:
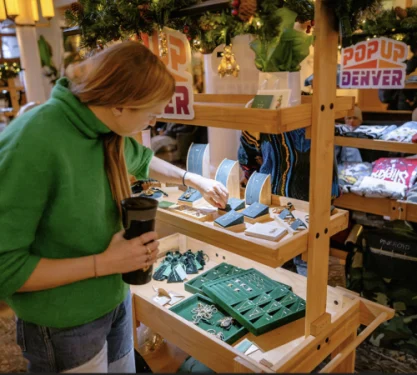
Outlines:
[[113, 40], [138, 38], [164, 26], [184, 32], [192, 47], [210, 53], [218, 45], [242, 34], [272, 40], [281, 17], [276, 10], [287, 7], [299, 22], [313, 20], [311, 0], [231, 0], [230, 9], [199, 17], [171, 18], [173, 11], [201, 3], [200, 0], [79, 0], [66, 12], [69, 26], [78, 26], [83, 47], [102, 48]]

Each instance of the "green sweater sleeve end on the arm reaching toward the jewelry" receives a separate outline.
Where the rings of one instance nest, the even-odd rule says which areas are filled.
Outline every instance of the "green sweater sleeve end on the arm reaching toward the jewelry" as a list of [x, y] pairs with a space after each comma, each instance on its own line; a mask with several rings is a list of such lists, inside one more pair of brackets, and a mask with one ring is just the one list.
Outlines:
[[149, 165], [153, 157], [151, 149], [141, 145], [133, 138], [125, 138], [125, 159], [128, 172], [138, 180], [149, 176]]

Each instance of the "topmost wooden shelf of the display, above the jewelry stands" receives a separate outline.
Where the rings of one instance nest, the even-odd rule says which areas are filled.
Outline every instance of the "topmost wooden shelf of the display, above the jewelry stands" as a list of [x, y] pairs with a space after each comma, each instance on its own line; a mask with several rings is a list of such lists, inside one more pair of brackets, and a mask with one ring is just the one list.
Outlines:
[[[195, 117], [180, 120], [181, 124], [210, 126], [279, 134], [311, 126], [312, 97], [302, 96], [302, 104], [279, 110], [245, 108], [253, 95], [211, 95], [199, 94], [194, 97]], [[335, 102], [335, 119], [344, 117], [353, 109], [354, 97], [339, 97]], [[160, 121], [172, 122], [161, 118]]]

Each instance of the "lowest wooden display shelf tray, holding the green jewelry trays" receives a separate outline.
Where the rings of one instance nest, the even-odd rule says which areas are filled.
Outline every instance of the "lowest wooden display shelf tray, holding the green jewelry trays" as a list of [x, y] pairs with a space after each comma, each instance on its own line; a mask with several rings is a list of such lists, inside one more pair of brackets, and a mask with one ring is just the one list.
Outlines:
[[[159, 262], [163, 260], [167, 251], [203, 250], [209, 257], [204, 271], [221, 262], [245, 269], [255, 268], [274, 280], [292, 286], [294, 293], [301, 298], [305, 299], [307, 296], [307, 279], [296, 273], [282, 268], [267, 267], [183, 234], [174, 234], [159, 241]], [[192, 279], [196, 276], [198, 275], [188, 275], [188, 278]], [[168, 284], [166, 281], [152, 280], [146, 285], [131, 286], [135, 327], [144, 323], [171, 344], [219, 373], [310, 372], [329, 355], [333, 356], [333, 360], [326, 366], [324, 372], [341, 368], [350, 369], [358, 344], [379, 324], [394, 316], [392, 309], [362, 299], [345, 289], [327, 286], [325, 316], [328, 317], [328, 325], [322, 327], [322, 330], [314, 336], [305, 335], [305, 318], [260, 336], [248, 333], [241, 340], [247, 338], [261, 350], [247, 356], [174, 314], [167, 307], [154, 302], [152, 299], [156, 294], [154, 287], [177, 292], [186, 298], [191, 295], [184, 290], [184, 283]], [[315, 301], [311, 303], [314, 304]], [[368, 328], [365, 329], [365, 334], [356, 337], [359, 325]], [[138, 349], [136, 337], [135, 347]], [[167, 356], [165, 359], [169, 361], [170, 357]], [[163, 357], [160, 357], [160, 361], [162, 360]], [[159, 366], [164, 367], [162, 363], [159, 363]]]

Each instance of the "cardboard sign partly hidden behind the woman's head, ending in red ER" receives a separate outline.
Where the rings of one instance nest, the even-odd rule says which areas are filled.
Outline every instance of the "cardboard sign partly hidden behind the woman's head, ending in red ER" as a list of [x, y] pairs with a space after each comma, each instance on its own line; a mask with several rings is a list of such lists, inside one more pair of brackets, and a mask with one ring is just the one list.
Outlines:
[[[175, 94], [164, 111], [164, 118], [192, 120], [194, 118], [194, 89], [191, 71], [191, 47], [187, 37], [179, 31], [164, 28], [168, 54], [161, 60], [175, 78]], [[141, 35], [146, 47], [159, 56], [159, 35]]]

